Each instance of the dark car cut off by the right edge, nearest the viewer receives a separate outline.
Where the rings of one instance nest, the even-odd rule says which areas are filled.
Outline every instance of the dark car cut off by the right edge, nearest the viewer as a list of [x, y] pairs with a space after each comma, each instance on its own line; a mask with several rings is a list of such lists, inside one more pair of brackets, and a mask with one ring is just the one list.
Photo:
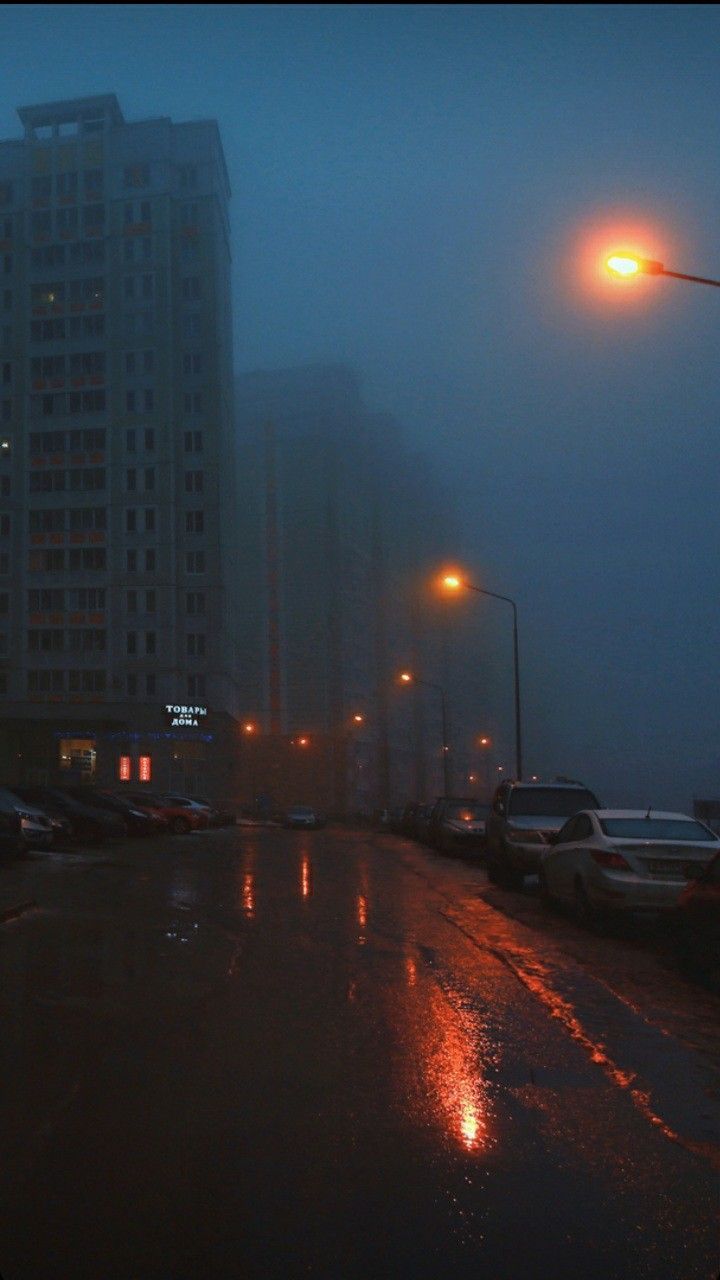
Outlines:
[[682, 968], [720, 991], [720, 851], [680, 891], [669, 923]]

